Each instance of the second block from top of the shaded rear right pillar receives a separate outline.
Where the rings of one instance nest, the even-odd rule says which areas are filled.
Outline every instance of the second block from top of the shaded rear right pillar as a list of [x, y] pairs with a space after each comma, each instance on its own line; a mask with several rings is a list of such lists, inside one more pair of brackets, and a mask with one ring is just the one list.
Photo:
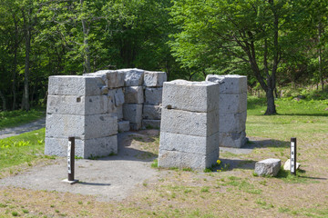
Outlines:
[[247, 93], [220, 94], [220, 113], [241, 113], [247, 110]]

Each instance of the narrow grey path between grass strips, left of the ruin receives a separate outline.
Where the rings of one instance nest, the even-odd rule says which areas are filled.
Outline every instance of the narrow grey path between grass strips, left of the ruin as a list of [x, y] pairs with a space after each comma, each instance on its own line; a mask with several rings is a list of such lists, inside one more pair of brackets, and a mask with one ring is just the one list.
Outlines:
[[46, 117], [43, 117], [29, 124], [23, 124], [16, 127], [10, 127], [0, 130], [0, 139], [38, 130], [45, 126], [46, 126]]

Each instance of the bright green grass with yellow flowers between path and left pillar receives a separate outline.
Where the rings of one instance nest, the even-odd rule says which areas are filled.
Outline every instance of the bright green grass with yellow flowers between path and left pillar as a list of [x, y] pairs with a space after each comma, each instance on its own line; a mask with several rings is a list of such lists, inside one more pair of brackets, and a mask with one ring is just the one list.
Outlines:
[[0, 140], [0, 172], [5, 168], [22, 163], [32, 163], [36, 159], [46, 157], [45, 132], [42, 128], [26, 134]]

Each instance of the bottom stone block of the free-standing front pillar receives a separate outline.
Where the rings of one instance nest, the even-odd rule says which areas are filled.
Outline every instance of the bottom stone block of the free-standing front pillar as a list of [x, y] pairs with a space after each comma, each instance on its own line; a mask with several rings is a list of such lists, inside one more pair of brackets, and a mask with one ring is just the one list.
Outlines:
[[215, 164], [219, 158], [219, 150], [210, 154], [191, 154], [178, 151], [159, 150], [160, 167], [191, 168], [192, 170], [203, 171]]

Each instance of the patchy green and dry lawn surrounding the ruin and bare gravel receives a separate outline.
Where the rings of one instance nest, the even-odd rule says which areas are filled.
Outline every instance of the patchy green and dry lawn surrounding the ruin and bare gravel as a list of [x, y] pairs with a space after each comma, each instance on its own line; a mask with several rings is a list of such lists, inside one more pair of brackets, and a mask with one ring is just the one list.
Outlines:
[[[2, 187], [0, 217], [328, 217], [328, 100], [283, 98], [276, 104], [279, 114], [264, 116], [265, 101], [249, 96], [246, 132], [254, 148], [251, 154], [222, 152], [222, 166], [227, 160], [236, 163], [222, 172], [154, 168], [159, 176], [140, 184], [122, 202]], [[19, 139], [30, 145], [1, 148], [1, 170], [12, 164], [4, 160], [6, 152], [22, 153], [25, 164], [40, 158], [44, 145], [38, 140], [44, 130], [36, 133], [35, 141]], [[297, 137], [302, 171], [297, 176], [283, 171], [273, 178], [254, 176], [253, 163], [273, 157], [283, 164], [288, 159], [291, 137]], [[158, 138], [147, 142], [140, 149], [155, 153]]]

